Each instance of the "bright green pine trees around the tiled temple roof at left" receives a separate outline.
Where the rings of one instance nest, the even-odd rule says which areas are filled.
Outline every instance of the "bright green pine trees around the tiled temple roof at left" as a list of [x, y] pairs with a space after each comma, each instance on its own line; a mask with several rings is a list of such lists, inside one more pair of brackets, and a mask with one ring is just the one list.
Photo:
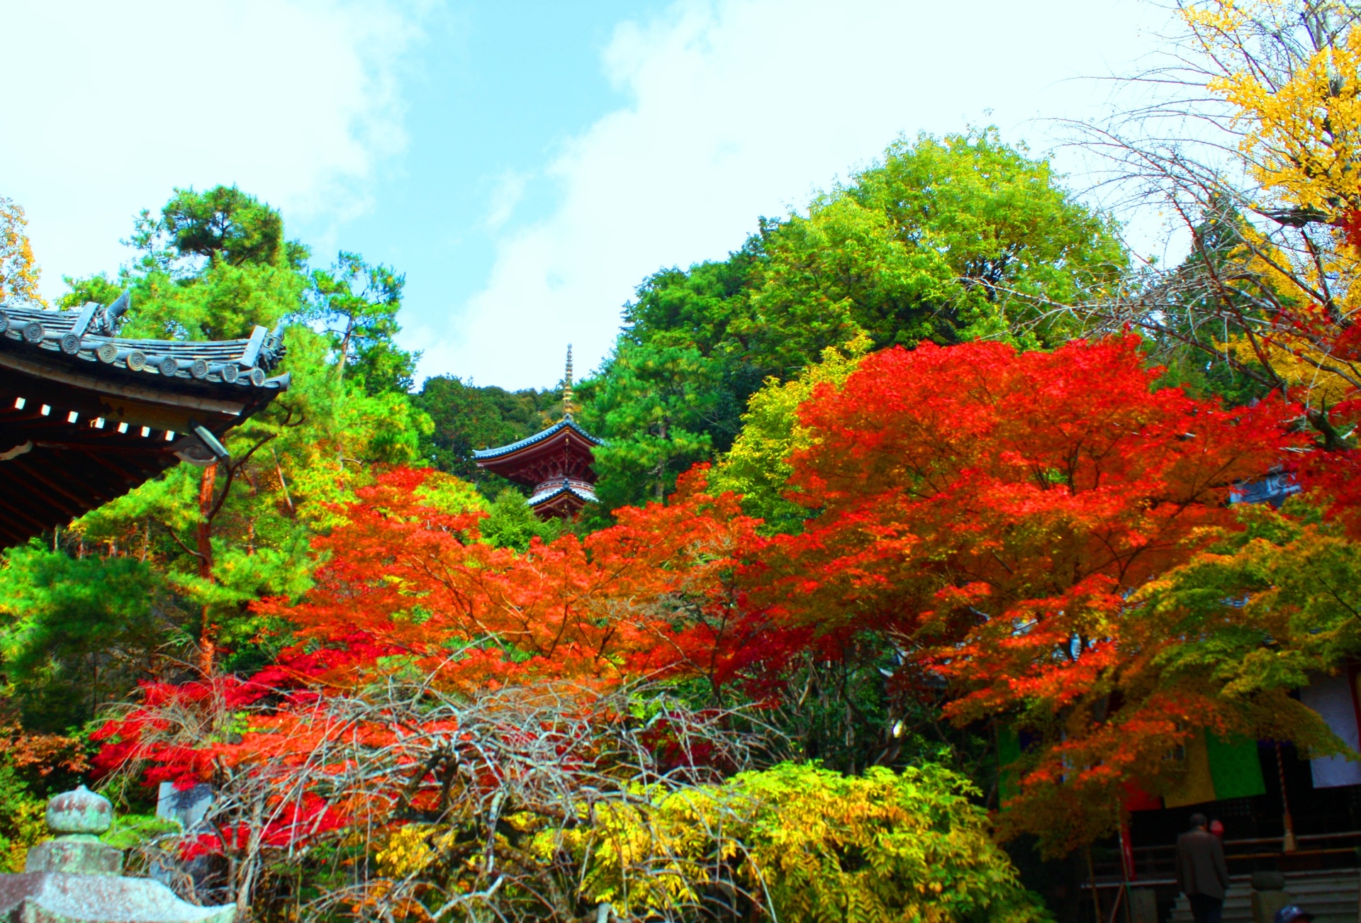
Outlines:
[[[229, 339], [257, 324], [283, 324], [287, 354], [279, 370], [291, 376], [290, 388], [227, 434], [230, 476], [225, 468], [177, 466], [75, 521], [63, 531], [64, 547], [50, 554], [60, 562], [86, 545], [98, 547], [114, 573], [131, 566], [125, 555], [135, 550], [140, 569], [133, 570], [163, 600], [147, 649], [163, 645], [167, 656], [189, 658], [195, 638], [211, 637], [225, 651], [220, 666], [248, 668], [287, 634], [287, 626], [257, 618], [250, 603], [304, 592], [309, 543], [332, 523], [331, 505], [352, 498], [372, 466], [415, 462], [429, 436], [429, 418], [406, 393], [414, 357], [392, 342], [403, 278], [347, 252], [333, 268], [310, 272], [306, 248], [287, 241], [279, 212], [227, 187], [177, 189], [158, 215], [143, 212], [132, 244], [136, 257], [116, 278], [68, 280], [61, 305], [109, 304], [131, 289], [125, 336]], [[11, 569], [34, 562], [41, 564], [11, 553]], [[0, 606], [7, 599], [0, 595]], [[109, 618], [131, 618], [120, 613]], [[59, 689], [53, 683], [64, 674], [56, 666], [46, 673], [23, 666], [41, 660], [34, 651], [56, 649], [38, 630], [46, 622], [35, 615], [16, 625], [23, 630], [14, 629], [5, 652], [12, 670], [26, 670], [11, 671], [22, 679], [16, 694]], [[61, 653], [52, 663], [73, 658]]]

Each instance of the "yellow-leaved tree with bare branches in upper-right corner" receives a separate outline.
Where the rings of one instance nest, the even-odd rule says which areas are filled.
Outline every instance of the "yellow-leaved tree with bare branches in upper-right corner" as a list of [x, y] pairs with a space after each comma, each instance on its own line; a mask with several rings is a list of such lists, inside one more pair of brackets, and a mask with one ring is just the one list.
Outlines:
[[1361, 19], [1343, 0], [1177, 16], [1169, 65], [1134, 82], [1153, 102], [1087, 129], [1187, 256], [1078, 310], [1218, 366], [1221, 392], [1290, 393], [1334, 442], [1330, 408], [1361, 393]]

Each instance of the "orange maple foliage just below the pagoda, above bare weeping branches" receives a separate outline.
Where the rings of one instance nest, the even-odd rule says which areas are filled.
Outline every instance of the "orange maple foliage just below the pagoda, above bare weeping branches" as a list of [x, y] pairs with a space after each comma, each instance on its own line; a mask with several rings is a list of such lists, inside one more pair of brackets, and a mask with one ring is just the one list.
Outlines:
[[680, 668], [717, 645], [755, 520], [735, 497], [704, 493], [702, 470], [670, 504], [618, 511], [611, 528], [535, 539], [523, 554], [476, 540], [483, 513], [426, 505], [418, 489], [427, 476], [401, 468], [361, 490], [346, 524], [317, 539], [327, 562], [306, 598], [257, 606], [305, 641], [279, 658], [269, 682], [343, 687], [403, 667], [464, 689], [618, 682]]

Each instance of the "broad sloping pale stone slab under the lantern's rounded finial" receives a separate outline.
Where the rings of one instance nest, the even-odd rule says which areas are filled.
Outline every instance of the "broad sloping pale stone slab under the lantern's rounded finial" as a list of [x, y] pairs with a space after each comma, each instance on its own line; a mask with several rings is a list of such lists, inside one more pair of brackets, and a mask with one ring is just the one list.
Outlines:
[[196, 907], [150, 878], [0, 875], [0, 919], [7, 923], [231, 923], [235, 912], [235, 904]]

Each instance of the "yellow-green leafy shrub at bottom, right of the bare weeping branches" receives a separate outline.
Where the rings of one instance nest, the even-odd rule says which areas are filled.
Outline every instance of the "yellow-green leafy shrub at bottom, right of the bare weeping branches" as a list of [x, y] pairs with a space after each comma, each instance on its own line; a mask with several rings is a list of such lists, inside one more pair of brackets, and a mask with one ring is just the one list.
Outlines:
[[818, 923], [1044, 919], [970, 794], [936, 765], [844, 776], [781, 764], [721, 786], [640, 790], [538, 845], [578, 855], [583, 897], [625, 919], [713, 901]]

